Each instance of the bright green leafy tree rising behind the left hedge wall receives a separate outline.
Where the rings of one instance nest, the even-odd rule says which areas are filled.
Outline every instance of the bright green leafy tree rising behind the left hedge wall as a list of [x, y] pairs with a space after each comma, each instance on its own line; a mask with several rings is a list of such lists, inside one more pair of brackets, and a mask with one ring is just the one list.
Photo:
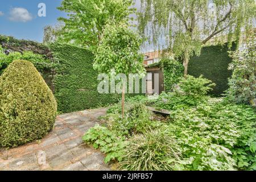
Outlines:
[[59, 41], [94, 49], [106, 22], [131, 19], [129, 15], [135, 11], [132, 5], [132, 0], [63, 0], [58, 9], [67, 13], [68, 18], [59, 18], [64, 23]]

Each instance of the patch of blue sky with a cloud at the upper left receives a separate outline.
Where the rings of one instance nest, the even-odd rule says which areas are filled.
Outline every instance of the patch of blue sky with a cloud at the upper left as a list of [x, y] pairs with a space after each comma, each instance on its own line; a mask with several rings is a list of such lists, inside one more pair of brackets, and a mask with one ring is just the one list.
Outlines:
[[[39, 3], [46, 4], [46, 17], [38, 16]], [[0, 34], [43, 41], [43, 28], [54, 25], [65, 13], [56, 9], [61, 0], [0, 0]]]

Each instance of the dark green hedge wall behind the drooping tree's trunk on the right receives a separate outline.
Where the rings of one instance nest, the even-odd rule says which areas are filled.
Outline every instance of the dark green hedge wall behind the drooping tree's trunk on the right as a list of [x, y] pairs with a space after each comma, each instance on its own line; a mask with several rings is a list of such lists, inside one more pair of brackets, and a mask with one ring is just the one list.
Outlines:
[[[232, 50], [236, 46], [233, 44]], [[228, 70], [228, 65], [232, 59], [228, 54], [228, 46], [209, 46], [204, 47], [200, 56], [193, 56], [189, 60], [188, 74], [199, 77], [204, 75], [205, 78], [212, 80], [216, 86], [210, 94], [221, 96], [224, 90], [228, 89], [228, 78], [232, 71]]]

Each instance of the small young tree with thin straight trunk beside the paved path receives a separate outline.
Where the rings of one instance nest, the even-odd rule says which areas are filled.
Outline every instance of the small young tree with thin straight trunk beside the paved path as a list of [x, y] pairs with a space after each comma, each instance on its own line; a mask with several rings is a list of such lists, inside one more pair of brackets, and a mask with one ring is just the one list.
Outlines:
[[[138, 73], [143, 75], [143, 56], [139, 53], [142, 39], [126, 22], [110, 22], [95, 52], [94, 69], [101, 73]], [[122, 84], [122, 115], [124, 115], [125, 85]]]

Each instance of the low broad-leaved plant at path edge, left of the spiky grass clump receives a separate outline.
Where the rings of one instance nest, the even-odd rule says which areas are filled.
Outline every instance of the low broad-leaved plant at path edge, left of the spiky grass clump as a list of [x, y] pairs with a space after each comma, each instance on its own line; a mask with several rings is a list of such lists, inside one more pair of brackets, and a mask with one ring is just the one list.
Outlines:
[[94, 148], [100, 148], [106, 154], [105, 163], [110, 160], [121, 161], [123, 158], [123, 148], [126, 142], [123, 137], [118, 137], [104, 126], [96, 125], [89, 129], [82, 140], [88, 144], [93, 144]]

